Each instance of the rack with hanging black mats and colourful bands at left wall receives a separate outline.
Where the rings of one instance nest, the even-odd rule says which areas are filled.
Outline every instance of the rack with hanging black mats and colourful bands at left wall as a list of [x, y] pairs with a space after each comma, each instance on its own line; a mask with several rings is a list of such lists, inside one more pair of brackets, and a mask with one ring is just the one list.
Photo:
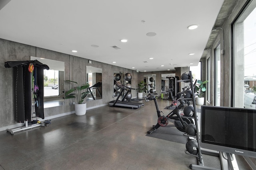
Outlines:
[[[7, 61], [6, 68], [13, 68], [13, 90], [14, 90], [14, 120], [24, 123], [25, 126], [7, 129], [12, 135], [18, 131], [44, 126], [37, 123], [28, 125], [31, 121], [32, 106], [33, 113], [44, 119], [44, 74], [43, 70], [49, 70], [46, 64], [34, 61]], [[32, 102], [33, 101], [33, 102]]]

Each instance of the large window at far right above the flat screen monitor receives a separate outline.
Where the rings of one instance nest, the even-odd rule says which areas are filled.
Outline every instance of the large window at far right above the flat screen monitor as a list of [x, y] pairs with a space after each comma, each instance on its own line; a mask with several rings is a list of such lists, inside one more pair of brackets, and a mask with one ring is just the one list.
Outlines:
[[256, 0], [246, 4], [232, 24], [233, 107], [256, 108]]

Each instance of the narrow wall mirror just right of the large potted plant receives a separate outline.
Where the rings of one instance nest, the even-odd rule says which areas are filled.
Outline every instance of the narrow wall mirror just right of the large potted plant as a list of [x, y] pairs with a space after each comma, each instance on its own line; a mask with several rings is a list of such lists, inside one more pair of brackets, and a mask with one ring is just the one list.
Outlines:
[[90, 84], [86, 101], [102, 99], [102, 68], [86, 66], [86, 74]]

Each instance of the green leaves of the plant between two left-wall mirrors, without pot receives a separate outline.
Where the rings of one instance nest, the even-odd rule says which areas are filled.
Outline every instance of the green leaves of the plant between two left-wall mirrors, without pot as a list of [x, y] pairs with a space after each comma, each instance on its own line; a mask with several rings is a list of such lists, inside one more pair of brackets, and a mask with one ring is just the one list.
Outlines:
[[[71, 80], [66, 80], [66, 81], [73, 82]], [[84, 98], [87, 96], [88, 93], [90, 93], [87, 91], [87, 88], [90, 87], [90, 85], [86, 83], [79, 86], [77, 82], [73, 82], [73, 83], [76, 83], [77, 87], [68, 90], [65, 93], [65, 99], [76, 98], [77, 104], [82, 104], [84, 102]]]

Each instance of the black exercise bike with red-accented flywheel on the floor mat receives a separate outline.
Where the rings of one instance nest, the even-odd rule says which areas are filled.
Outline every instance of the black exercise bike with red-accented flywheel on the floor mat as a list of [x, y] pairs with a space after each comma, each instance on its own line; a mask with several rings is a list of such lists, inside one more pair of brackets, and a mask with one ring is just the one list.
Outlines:
[[[157, 93], [150, 93], [148, 94], [148, 96], [144, 96], [145, 98], [145, 102], [149, 102], [151, 100], [154, 100], [155, 106], [156, 106], [156, 112], [157, 112], [157, 116], [158, 116], [158, 120], [157, 120], [157, 124], [154, 125], [152, 127], [152, 129], [150, 129], [147, 133], [151, 134], [154, 131], [156, 131], [156, 129], [158, 129], [160, 126], [162, 127], [166, 127], [170, 122], [174, 123], [174, 125], [168, 125], [168, 127], [176, 127], [179, 131], [182, 132], [186, 132], [185, 128], [188, 124], [193, 123], [194, 121], [191, 119], [191, 117], [185, 117], [182, 116], [180, 114], [180, 109], [183, 109], [184, 106], [187, 104], [186, 102], [186, 98], [181, 98], [183, 94], [186, 94], [186, 92], [188, 92], [188, 88], [186, 90], [184, 90], [183, 92], [178, 92], [177, 96], [179, 97], [178, 100], [174, 100], [172, 93], [171, 94], [171, 98], [172, 98], [172, 104], [171, 106], [175, 106], [175, 109], [173, 109], [168, 115], [164, 115], [164, 113], [162, 111], [159, 110], [158, 107], [158, 103], [156, 100], [156, 94]], [[178, 102], [180, 103], [178, 106]], [[163, 113], [163, 115], [161, 115], [160, 113]]]

